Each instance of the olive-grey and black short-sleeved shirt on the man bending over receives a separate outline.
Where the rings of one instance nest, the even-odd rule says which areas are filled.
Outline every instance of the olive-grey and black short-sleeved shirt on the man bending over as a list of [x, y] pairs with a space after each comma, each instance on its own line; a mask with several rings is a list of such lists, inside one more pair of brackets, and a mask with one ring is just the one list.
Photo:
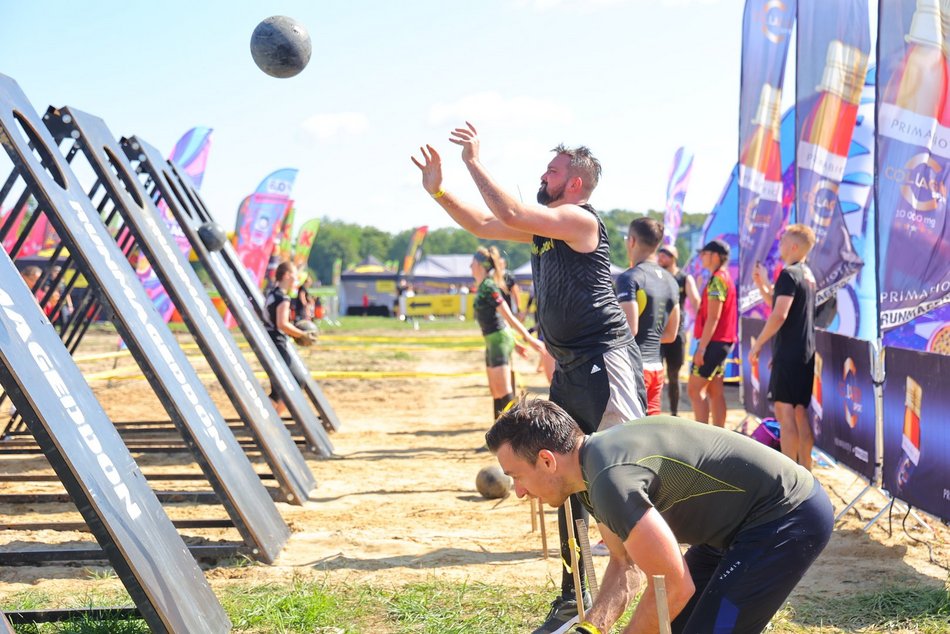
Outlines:
[[652, 506], [683, 544], [725, 548], [745, 529], [808, 499], [814, 477], [747, 436], [648, 416], [587, 436], [580, 452], [587, 510], [620, 539]]

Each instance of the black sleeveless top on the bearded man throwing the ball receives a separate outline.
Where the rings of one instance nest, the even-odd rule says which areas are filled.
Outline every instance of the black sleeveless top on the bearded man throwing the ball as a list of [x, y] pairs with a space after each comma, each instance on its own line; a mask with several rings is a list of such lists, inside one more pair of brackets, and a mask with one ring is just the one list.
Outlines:
[[633, 342], [610, 277], [607, 229], [597, 218], [599, 240], [578, 253], [563, 240], [534, 236], [531, 271], [544, 344], [558, 365], [569, 370], [591, 357]]

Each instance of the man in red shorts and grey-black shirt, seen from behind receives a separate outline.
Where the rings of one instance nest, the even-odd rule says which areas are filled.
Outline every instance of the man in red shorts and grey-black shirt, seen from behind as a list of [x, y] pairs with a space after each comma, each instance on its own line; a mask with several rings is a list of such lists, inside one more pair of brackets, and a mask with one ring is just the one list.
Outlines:
[[637, 218], [627, 229], [630, 268], [617, 278], [617, 301], [627, 316], [630, 332], [643, 358], [647, 390], [647, 416], [660, 413], [663, 396], [662, 342], [676, 338], [679, 330], [679, 288], [673, 276], [656, 263], [656, 249], [663, 241], [663, 225], [652, 218]]

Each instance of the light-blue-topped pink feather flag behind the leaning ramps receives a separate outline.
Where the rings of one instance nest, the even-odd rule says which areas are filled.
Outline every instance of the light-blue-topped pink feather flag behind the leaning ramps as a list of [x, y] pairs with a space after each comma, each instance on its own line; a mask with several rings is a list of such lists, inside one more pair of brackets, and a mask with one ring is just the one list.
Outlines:
[[248, 200], [247, 211], [237, 230], [237, 254], [251, 279], [263, 284], [280, 222], [290, 208], [297, 170], [277, 170], [261, 181]]

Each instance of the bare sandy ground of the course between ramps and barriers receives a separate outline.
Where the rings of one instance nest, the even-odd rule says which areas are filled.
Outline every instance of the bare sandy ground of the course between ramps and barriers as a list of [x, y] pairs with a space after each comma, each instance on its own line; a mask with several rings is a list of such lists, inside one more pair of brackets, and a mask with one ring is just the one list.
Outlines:
[[[377, 333], [391, 335], [392, 333]], [[416, 345], [419, 338], [444, 338], [445, 333], [406, 331], [404, 339], [359, 343], [327, 337], [308, 350], [314, 370], [403, 372], [397, 377], [322, 380], [321, 385], [342, 421], [333, 435], [336, 458], [307, 454], [318, 486], [303, 506], [278, 503], [292, 537], [273, 565], [211, 567], [212, 586], [229, 583], [289, 581], [295, 577], [359, 582], [393, 587], [433, 578], [541, 586], [560, 576], [555, 553], [556, 518], [547, 509], [550, 556], [541, 551], [540, 532], [532, 530], [529, 504], [510, 496], [500, 501], [481, 498], [475, 490], [477, 471], [493, 460], [475, 451], [491, 419], [491, 399], [483, 375], [482, 351], [464, 343], [451, 349]], [[474, 331], [459, 336], [474, 335]], [[451, 336], [451, 335], [450, 335]], [[187, 340], [187, 337], [184, 339]], [[114, 349], [114, 336], [91, 336], [79, 354]], [[192, 354], [197, 354], [192, 350]], [[113, 360], [84, 362], [87, 372], [108, 369]], [[119, 369], [134, 370], [120, 358]], [[196, 361], [207, 372], [203, 360]], [[529, 392], [546, 392], [544, 377], [534, 363], [517, 360], [516, 369]], [[416, 375], [416, 376], [414, 376]], [[209, 391], [222, 413], [233, 415], [223, 390], [208, 377]], [[152, 419], [161, 406], [141, 379], [92, 383], [113, 420]], [[685, 390], [684, 390], [685, 391]], [[731, 392], [730, 392], [731, 393]], [[731, 393], [732, 394], [732, 393]], [[733, 394], [734, 396], [734, 394]], [[689, 412], [683, 408], [684, 413]], [[742, 418], [730, 410], [729, 424]], [[140, 455], [147, 476], [163, 471], [200, 472], [187, 453]], [[259, 472], [267, 466], [254, 457]], [[41, 457], [0, 457], [2, 473], [47, 471]], [[819, 468], [838, 509], [861, 491], [863, 481], [843, 469]], [[202, 488], [207, 483], [155, 482], [160, 488]], [[273, 486], [273, 482], [269, 483]], [[5, 493], [61, 490], [55, 483], [3, 483]], [[872, 492], [839, 523], [827, 550], [792, 596], [835, 596], [874, 592], [895, 584], [942, 586], [950, 559], [950, 531], [938, 522], [936, 532], [912, 518], [902, 529], [895, 512], [893, 533], [887, 517], [863, 532], [864, 524], [883, 506]], [[169, 504], [173, 518], [224, 518], [220, 506]], [[0, 522], [79, 521], [70, 504], [2, 504]], [[239, 541], [234, 529], [183, 530], [189, 541]], [[921, 540], [926, 545], [914, 541]], [[596, 534], [592, 533], [596, 540]], [[81, 532], [5, 530], [0, 549], [15, 550], [34, 543], [89, 542]], [[606, 558], [595, 558], [602, 569]], [[0, 569], [0, 606], [25, 590], [70, 597], [118, 586], [103, 574], [108, 568], [88, 565], [16, 566]]]

